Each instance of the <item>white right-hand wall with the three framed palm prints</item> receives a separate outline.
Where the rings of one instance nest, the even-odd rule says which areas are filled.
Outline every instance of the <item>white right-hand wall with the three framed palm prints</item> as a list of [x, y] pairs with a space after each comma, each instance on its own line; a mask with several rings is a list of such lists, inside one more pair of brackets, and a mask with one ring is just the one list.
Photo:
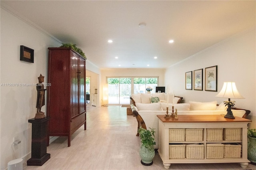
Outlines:
[[[184, 102], [218, 101], [218, 103], [221, 103], [227, 99], [215, 96], [222, 89], [223, 82], [234, 81], [238, 91], [245, 97], [245, 99], [236, 99], [235, 107], [250, 110], [250, 117], [253, 121], [250, 127], [256, 127], [255, 37], [254, 29], [218, 43], [191, 56], [189, 59], [172, 65], [166, 70], [165, 86], [174, 89], [175, 95], [184, 97]], [[185, 72], [205, 69], [214, 65], [218, 65], [218, 92], [185, 90]]]

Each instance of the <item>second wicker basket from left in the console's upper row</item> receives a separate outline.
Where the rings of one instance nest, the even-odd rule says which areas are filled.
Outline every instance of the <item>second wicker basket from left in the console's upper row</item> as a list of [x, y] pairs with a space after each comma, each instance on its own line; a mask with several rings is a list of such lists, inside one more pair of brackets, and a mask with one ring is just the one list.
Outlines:
[[188, 142], [203, 141], [203, 129], [202, 128], [186, 128], [185, 141], [188, 141]]

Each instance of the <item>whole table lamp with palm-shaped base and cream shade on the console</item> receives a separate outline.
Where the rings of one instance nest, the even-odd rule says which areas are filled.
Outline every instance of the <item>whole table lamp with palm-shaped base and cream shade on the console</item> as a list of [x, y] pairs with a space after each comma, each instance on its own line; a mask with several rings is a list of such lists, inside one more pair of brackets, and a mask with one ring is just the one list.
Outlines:
[[228, 105], [227, 114], [224, 117], [234, 119], [235, 117], [231, 111], [231, 107], [234, 107], [235, 101], [230, 101], [230, 98], [244, 99], [244, 97], [242, 97], [242, 95], [240, 95], [240, 93], [238, 92], [238, 90], [236, 88], [236, 83], [235, 82], [224, 82], [220, 93], [218, 95], [216, 95], [215, 97], [228, 98], [228, 101], [224, 101], [225, 104]]

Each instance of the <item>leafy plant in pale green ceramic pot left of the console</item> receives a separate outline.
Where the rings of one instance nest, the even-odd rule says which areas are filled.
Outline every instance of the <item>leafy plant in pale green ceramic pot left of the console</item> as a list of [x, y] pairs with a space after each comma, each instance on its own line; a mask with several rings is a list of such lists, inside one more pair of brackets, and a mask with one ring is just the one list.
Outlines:
[[155, 129], [150, 128], [150, 130], [146, 130], [142, 127], [138, 130], [140, 134], [140, 158], [141, 163], [146, 166], [150, 166], [153, 164], [153, 158], [155, 156], [154, 145], [155, 141]]

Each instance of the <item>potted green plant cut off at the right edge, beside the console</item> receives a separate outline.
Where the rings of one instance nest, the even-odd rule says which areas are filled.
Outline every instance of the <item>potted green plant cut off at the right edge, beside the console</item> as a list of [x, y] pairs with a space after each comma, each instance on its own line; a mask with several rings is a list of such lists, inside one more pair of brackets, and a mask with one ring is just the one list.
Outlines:
[[256, 129], [248, 129], [247, 130], [248, 137], [248, 160], [251, 161], [252, 164], [256, 164]]

